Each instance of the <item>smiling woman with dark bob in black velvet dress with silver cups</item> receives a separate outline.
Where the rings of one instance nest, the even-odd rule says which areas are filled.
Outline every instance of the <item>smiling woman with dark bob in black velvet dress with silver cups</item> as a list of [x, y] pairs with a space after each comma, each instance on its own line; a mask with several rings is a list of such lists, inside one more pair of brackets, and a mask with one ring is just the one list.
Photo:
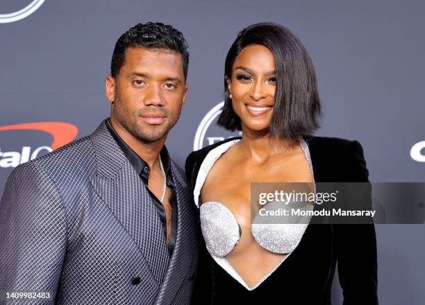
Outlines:
[[283, 232], [292, 235], [281, 249], [251, 226], [251, 182], [368, 181], [360, 143], [309, 135], [321, 105], [304, 46], [278, 24], [245, 28], [228, 51], [224, 88], [218, 124], [242, 138], [186, 160], [203, 245], [194, 304], [331, 304], [337, 261], [344, 304], [377, 304], [373, 225], [308, 224]]

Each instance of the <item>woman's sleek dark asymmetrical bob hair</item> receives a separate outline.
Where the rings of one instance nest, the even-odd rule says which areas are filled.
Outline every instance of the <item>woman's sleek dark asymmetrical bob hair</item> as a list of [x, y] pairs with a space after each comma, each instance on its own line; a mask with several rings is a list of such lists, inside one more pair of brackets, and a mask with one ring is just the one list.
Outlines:
[[276, 93], [270, 132], [281, 139], [295, 139], [319, 128], [322, 114], [315, 68], [297, 36], [273, 23], [253, 24], [238, 34], [226, 56], [224, 67], [224, 107], [217, 124], [227, 130], [242, 130], [232, 107], [226, 78], [231, 79], [235, 59], [251, 44], [266, 46], [276, 64]]

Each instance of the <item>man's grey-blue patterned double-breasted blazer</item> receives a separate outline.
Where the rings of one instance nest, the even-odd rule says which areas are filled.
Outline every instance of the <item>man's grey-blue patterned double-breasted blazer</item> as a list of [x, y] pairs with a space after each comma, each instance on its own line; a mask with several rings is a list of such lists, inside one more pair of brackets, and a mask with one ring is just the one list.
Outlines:
[[189, 304], [197, 223], [185, 175], [171, 168], [178, 212], [171, 257], [149, 193], [104, 121], [15, 168], [0, 203], [0, 304]]

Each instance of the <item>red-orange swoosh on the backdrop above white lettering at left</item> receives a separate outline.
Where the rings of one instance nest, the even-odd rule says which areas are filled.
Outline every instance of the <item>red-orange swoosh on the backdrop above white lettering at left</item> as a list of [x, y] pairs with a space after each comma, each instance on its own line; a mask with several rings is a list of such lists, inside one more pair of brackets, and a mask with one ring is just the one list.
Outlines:
[[51, 143], [51, 148], [53, 149], [66, 145], [74, 140], [78, 134], [78, 128], [75, 125], [65, 122], [38, 122], [0, 126], [0, 131], [2, 130], [40, 130], [47, 132], [53, 137], [53, 142]]

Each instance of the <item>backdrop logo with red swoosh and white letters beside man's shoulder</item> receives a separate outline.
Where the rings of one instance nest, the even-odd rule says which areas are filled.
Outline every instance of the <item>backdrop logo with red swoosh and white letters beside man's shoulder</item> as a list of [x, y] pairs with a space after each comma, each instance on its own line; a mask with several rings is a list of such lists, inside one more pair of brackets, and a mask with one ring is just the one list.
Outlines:
[[35, 159], [42, 151], [49, 153], [74, 140], [78, 134], [78, 128], [75, 125], [64, 122], [38, 122], [0, 126], [0, 132], [6, 130], [38, 130], [47, 132], [53, 137], [53, 142], [51, 146], [40, 146], [32, 152], [31, 146], [22, 146], [20, 153], [17, 151], [2, 152], [0, 148], [0, 168], [16, 167], [19, 164]]

